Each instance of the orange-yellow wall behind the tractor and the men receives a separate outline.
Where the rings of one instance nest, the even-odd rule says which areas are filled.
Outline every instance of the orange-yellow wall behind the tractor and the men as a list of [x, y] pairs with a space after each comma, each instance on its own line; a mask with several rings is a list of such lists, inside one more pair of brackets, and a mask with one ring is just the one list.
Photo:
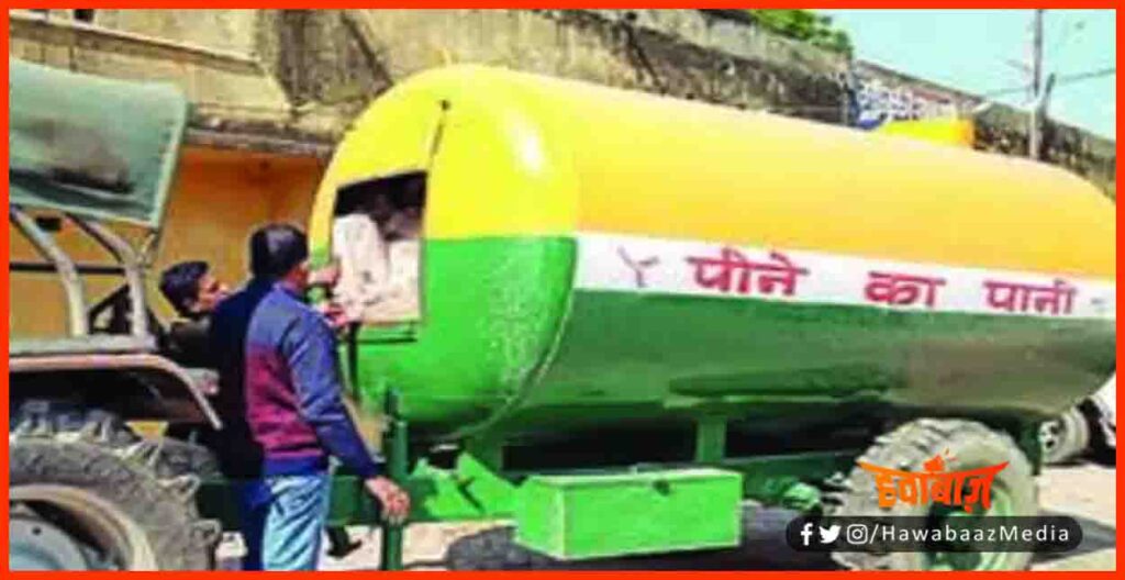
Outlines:
[[[314, 158], [189, 147], [169, 203], [159, 259], [148, 278], [150, 300], [158, 315], [165, 320], [171, 316], [171, 309], [155, 289], [163, 268], [181, 260], [207, 260], [232, 286], [241, 283], [246, 272], [246, 236], [255, 226], [274, 220], [304, 228], [322, 172], [322, 162]], [[36, 257], [29, 244], [10, 227], [9, 235], [10, 260]], [[75, 260], [107, 260], [71, 224], [64, 224], [57, 238]], [[88, 278], [88, 302], [97, 301], [120, 283], [118, 278]], [[9, 291], [11, 336], [65, 333], [65, 301], [56, 278], [12, 274]]]

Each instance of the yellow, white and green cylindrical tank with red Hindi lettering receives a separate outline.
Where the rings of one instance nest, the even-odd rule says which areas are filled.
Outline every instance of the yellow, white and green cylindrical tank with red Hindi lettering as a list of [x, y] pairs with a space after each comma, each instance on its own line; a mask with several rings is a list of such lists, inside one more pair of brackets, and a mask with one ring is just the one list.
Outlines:
[[1115, 206], [1043, 164], [456, 66], [353, 123], [316, 255], [341, 187], [414, 172], [421, 317], [348, 360], [426, 438], [1034, 422], [1115, 368]]

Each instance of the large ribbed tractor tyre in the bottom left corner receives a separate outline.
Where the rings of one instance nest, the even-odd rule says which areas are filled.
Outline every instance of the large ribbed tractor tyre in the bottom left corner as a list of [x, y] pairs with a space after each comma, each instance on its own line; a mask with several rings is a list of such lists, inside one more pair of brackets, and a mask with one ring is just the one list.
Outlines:
[[28, 401], [10, 417], [10, 569], [206, 570], [219, 526], [195, 474], [114, 415]]

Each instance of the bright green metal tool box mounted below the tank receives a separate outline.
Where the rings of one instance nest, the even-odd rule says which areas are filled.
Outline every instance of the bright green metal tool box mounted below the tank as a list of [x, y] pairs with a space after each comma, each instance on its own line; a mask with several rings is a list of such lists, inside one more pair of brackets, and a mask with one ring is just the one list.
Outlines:
[[560, 560], [737, 546], [742, 475], [717, 469], [534, 475], [515, 541]]

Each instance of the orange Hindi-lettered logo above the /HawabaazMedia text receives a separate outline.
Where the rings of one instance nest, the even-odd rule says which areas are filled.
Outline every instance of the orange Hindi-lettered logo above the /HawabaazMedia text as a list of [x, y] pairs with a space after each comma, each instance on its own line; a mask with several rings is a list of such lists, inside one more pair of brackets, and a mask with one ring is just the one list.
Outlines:
[[[946, 451], [948, 456], [948, 451]], [[922, 463], [921, 472], [901, 471], [856, 462], [875, 478], [879, 507], [889, 509], [903, 502], [911, 506], [943, 504], [961, 506], [972, 513], [975, 506], [982, 511], [992, 507], [992, 480], [1008, 466], [1008, 462], [963, 471], [945, 471], [940, 454]]]

